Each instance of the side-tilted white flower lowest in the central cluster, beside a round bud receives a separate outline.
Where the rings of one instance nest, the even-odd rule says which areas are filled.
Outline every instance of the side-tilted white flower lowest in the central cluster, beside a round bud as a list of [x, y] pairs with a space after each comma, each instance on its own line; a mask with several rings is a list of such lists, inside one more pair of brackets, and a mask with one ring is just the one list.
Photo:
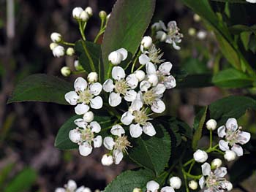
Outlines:
[[112, 137], [105, 137], [103, 145], [112, 151], [113, 161], [115, 164], [119, 164], [124, 157], [123, 153], [127, 153], [127, 147], [130, 146], [130, 142], [127, 140], [127, 136], [124, 135], [124, 128], [120, 125], [114, 125], [111, 130], [115, 139]]

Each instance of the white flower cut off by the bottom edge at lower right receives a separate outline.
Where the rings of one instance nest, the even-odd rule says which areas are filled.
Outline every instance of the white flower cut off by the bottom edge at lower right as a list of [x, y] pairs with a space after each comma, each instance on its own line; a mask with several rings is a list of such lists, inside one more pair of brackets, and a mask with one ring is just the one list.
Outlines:
[[230, 182], [224, 176], [227, 174], [227, 168], [219, 167], [211, 172], [211, 166], [208, 163], [202, 166], [203, 177], [199, 180], [200, 188], [204, 192], [223, 192], [230, 191]]

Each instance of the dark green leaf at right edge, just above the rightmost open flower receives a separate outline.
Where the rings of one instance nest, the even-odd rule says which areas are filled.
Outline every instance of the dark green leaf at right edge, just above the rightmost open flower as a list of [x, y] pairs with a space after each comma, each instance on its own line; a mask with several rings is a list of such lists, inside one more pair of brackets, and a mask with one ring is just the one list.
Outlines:
[[240, 118], [249, 109], [256, 110], [256, 101], [246, 96], [227, 96], [209, 105], [210, 117], [219, 125], [228, 118]]

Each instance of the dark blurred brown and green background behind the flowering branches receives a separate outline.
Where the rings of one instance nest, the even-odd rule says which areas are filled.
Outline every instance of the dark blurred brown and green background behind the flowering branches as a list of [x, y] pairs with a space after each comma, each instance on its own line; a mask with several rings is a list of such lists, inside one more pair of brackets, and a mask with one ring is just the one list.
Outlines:
[[[122, 162], [118, 166], [102, 166], [103, 148], [94, 150], [86, 158], [77, 150], [56, 149], [57, 131], [73, 115], [72, 107], [39, 102], [6, 105], [6, 101], [15, 84], [29, 74], [48, 73], [61, 77], [62, 66], [74, 68], [75, 58], [54, 58], [49, 48], [52, 32], [61, 33], [67, 42], [80, 38], [78, 25], [72, 19], [74, 7], [92, 7], [94, 15], [89, 20], [86, 35], [93, 40], [99, 31], [98, 12], [103, 9], [110, 13], [115, 1], [7, 1], [0, 0], [0, 191], [54, 191], [69, 179], [92, 190], [104, 189], [122, 170], [131, 169], [133, 165]], [[178, 0], [158, 0], [152, 23], [158, 20], [165, 23], [176, 20], [184, 34], [180, 51], [168, 45], [162, 47], [164, 58], [173, 64], [174, 71], [184, 69], [201, 74], [218, 70], [214, 62], [220, 62], [222, 56], [217, 40], [198, 15]], [[182, 76], [182, 70], [179, 75]], [[72, 82], [75, 75], [61, 78]], [[166, 113], [189, 125], [197, 112], [194, 106], [210, 104], [229, 94], [244, 94], [241, 90], [227, 92], [213, 86], [181, 88], [182, 84], [165, 96], [169, 106]], [[255, 135], [254, 117], [255, 113], [248, 112], [240, 122]], [[239, 184], [237, 191], [256, 191], [253, 182], [255, 176]]]

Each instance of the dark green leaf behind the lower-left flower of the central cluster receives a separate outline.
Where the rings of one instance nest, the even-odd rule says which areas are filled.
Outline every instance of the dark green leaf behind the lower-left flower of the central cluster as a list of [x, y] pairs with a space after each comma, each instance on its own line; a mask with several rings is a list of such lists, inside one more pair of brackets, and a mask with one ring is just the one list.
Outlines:
[[[60, 150], [73, 150], [78, 148], [78, 144], [71, 142], [69, 139], [69, 131], [77, 127], [74, 120], [78, 118], [81, 118], [80, 115], [75, 115], [72, 118], [69, 118], [69, 120], [67, 120], [66, 123], [61, 126], [55, 139], [55, 147], [59, 148]], [[109, 116], [95, 115], [94, 120], [99, 123], [102, 129], [112, 126], [114, 122], [114, 119]]]

